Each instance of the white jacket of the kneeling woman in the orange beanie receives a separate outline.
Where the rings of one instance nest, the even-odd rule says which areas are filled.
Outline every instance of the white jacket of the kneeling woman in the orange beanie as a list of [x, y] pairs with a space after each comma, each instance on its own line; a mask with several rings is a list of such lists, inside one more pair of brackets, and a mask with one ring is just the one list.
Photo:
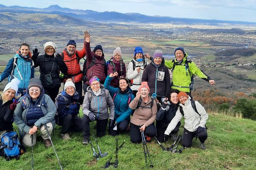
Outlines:
[[184, 128], [186, 128], [186, 130], [189, 130], [189, 132], [195, 132], [199, 126], [205, 127], [206, 121], [208, 119], [208, 114], [204, 110], [204, 107], [198, 101], [195, 101], [195, 105], [200, 115], [194, 111], [190, 101], [190, 97], [185, 102], [185, 105], [180, 104], [175, 117], [169, 123], [164, 134], [169, 135], [172, 130], [174, 130], [177, 123], [181, 120], [182, 114], [180, 113], [180, 107], [182, 107], [184, 112]]

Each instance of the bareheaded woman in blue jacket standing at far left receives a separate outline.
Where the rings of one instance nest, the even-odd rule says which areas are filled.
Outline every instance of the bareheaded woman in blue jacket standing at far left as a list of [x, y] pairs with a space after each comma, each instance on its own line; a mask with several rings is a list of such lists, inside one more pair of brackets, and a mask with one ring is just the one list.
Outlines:
[[20, 49], [16, 52], [14, 57], [9, 60], [6, 68], [0, 75], [0, 82], [6, 79], [6, 77], [8, 77], [9, 82], [11, 82], [12, 79], [17, 78], [20, 80], [18, 92], [21, 95], [26, 94], [26, 88], [29, 85], [29, 80], [34, 78], [35, 72], [31, 56], [37, 57], [38, 54], [38, 49], [35, 48], [32, 56], [31, 52], [29, 51], [29, 45], [27, 43], [21, 43]]

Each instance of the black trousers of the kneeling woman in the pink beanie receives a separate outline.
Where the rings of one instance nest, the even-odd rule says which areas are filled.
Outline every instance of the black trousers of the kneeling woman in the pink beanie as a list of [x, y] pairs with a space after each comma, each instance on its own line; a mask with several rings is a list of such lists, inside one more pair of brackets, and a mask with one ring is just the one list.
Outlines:
[[[130, 123], [130, 137], [132, 143], [140, 143], [142, 141], [140, 127], [141, 126]], [[154, 126], [154, 123], [145, 128], [144, 134], [149, 137], [156, 136], [156, 127]]]

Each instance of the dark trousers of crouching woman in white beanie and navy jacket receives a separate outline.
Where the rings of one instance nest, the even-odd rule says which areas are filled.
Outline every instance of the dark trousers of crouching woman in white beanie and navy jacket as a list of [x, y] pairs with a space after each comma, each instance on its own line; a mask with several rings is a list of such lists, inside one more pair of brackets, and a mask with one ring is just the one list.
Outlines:
[[80, 117], [72, 117], [71, 114], [67, 114], [61, 119], [61, 133], [65, 134], [69, 131], [82, 131], [82, 119]]

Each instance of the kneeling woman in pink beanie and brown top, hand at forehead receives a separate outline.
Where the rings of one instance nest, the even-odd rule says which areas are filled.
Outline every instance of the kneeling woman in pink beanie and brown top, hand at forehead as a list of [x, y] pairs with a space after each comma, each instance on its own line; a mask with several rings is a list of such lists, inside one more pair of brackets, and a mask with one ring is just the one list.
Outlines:
[[154, 121], [157, 116], [157, 103], [153, 98], [148, 96], [148, 94], [148, 83], [141, 82], [136, 97], [129, 105], [131, 109], [136, 109], [130, 123], [130, 136], [132, 143], [140, 143], [142, 141], [140, 131], [145, 132], [146, 140], [148, 141], [150, 141], [150, 137], [154, 137], [156, 135]]

